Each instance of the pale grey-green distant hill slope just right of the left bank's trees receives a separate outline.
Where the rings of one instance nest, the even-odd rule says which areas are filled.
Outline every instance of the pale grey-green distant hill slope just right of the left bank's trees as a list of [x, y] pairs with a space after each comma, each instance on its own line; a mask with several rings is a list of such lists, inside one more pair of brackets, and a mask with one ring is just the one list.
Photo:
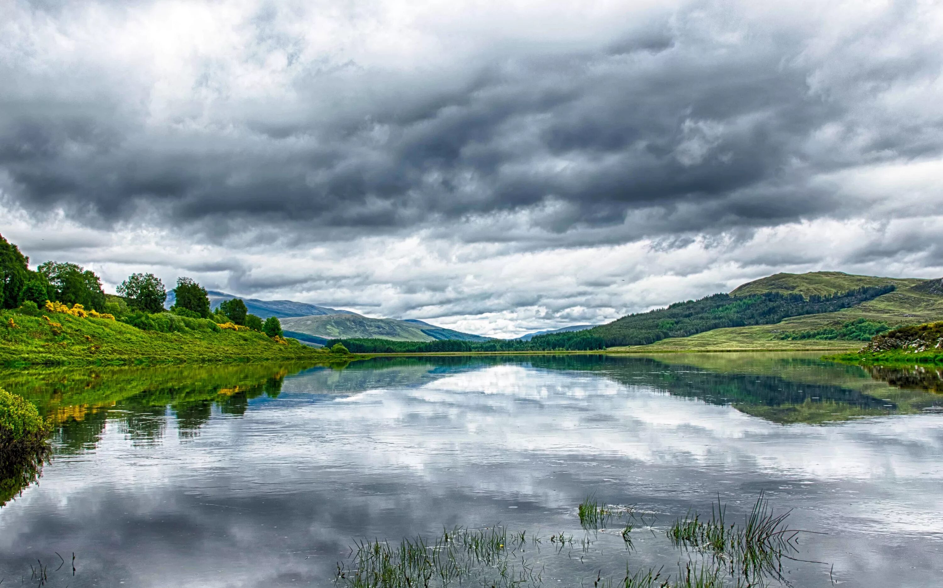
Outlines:
[[359, 314], [323, 314], [281, 319], [286, 336], [308, 343], [329, 339], [384, 339], [389, 341], [488, 341], [488, 337], [429, 325], [416, 319], [369, 318]]

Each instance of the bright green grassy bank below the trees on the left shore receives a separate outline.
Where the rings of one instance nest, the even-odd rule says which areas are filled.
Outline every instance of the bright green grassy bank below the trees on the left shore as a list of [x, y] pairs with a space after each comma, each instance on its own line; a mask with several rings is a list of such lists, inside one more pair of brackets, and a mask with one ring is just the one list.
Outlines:
[[[44, 318], [48, 317], [48, 320]], [[249, 361], [325, 361], [324, 350], [280, 344], [248, 330], [162, 333], [61, 312], [0, 312], [0, 365], [141, 365]], [[336, 359], [336, 358], [335, 358]]]

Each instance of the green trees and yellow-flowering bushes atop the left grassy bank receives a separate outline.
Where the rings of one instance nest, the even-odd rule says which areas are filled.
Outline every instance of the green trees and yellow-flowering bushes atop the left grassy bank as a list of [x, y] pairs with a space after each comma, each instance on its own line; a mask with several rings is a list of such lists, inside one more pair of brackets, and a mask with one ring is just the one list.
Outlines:
[[29, 258], [0, 235], [0, 308], [37, 315], [47, 310], [47, 303], [54, 303], [54, 308], [95, 311], [143, 330], [218, 331], [221, 326], [238, 326], [270, 337], [282, 336], [276, 317], [263, 321], [249, 314], [240, 298], [226, 300], [212, 310], [207, 290], [190, 277], [177, 278], [171, 291], [175, 302], [169, 311], [164, 309], [167, 289], [154, 274], [132, 274], [117, 292], [119, 295], [105, 294], [101, 279], [74, 263], [46, 261], [36, 271], [30, 270]]

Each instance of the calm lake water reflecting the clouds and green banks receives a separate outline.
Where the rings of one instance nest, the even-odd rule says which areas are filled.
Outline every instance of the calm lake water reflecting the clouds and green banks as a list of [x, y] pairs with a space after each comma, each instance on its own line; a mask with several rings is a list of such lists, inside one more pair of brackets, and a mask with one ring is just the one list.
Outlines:
[[[824, 533], [802, 536], [821, 563], [789, 562], [794, 585], [940, 585], [938, 376], [817, 357], [7, 374], [58, 432], [0, 508], [0, 578], [28, 584], [40, 560], [54, 586], [327, 586], [355, 540], [500, 522], [544, 537], [527, 554], [544, 585], [592, 585], [626, 563], [676, 573], [671, 521], [718, 496], [738, 521], [766, 491]], [[580, 528], [587, 495], [636, 505], [634, 550]], [[549, 547], [559, 531], [575, 546]]]

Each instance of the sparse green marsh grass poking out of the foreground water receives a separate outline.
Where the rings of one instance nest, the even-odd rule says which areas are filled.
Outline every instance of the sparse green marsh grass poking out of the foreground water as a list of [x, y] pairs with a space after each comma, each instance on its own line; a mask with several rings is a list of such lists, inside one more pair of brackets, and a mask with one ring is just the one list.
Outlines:
[[[564, 565], [571, 565], [566, 562], [586, 565], [585, 558], [602, 552], [604, 547], [604, 544], [597, 546], [596, 540], [606, 531], [594, 526], [604, 526], [609, 518], [623, 515], [630, 516], [631, 520], [616, 532], [626, 549], [635, 550], [632, 540], [637, 522], [634, 507], [612, 507], [590, 496], [577, 511], [581, 525], [589, 529], [586, 536], [576, 542], [580, 549], [575, 553], [577, 545], [573, 536], [564, 531], [541, 538], [523, 530], [511, 532], [500, 525], [483, 529], [456, 527], [443, 530], [429, 541], [417, 536], [399, 544], [379, 540], [358, 542], [352, 547], [350, 563], [338, 563], [335, 581], [352, 588], [539, 586], [543, 582], [544, 568], [535, 562], [541, 545], [552, 547], [550, 557], [560, 557], [569, 547], [568, 557], [562, 560]], [[709, 518], [689, 511], [667, 529], [670, 544], [686, 550], [686, 556], [677, 564], [677, 573], [665, 575], [663, 568], [639, 568], [632, 572], [626, 563], [621, 580], [618, 575], [605, 576], [603, 569], [599, 569], [588, 580], [577, 581], [580, 586], [591, 582], [593, 588], [788, 586], [783, 560], [802, 561], [792, 556], [798, 552], [799, 534], [806, 532], [788, 529], [788, 516], [788, 511], [773, 512], [761, 493], [742, 524], [729, 523], [719, 496]], [[540, 561], [550, 563], [543, 558]], [[557, 581], [560, 580], [554, 583]]]

